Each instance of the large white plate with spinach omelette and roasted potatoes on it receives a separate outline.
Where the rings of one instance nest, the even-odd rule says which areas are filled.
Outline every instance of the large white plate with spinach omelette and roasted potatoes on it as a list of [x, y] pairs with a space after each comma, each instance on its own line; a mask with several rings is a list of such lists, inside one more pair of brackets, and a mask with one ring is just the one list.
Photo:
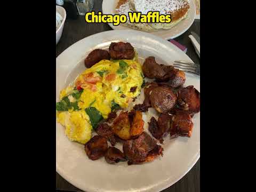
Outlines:
[[110, 30], [56, 59], [56, 171], [88, 192], [161, 191], [200, 157], [200, 77], [161, 37]]

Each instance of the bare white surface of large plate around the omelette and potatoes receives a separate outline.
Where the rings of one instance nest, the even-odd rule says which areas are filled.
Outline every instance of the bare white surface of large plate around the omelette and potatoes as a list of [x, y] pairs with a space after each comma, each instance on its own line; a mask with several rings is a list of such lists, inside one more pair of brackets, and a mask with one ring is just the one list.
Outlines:
[[[141, 59], [152, 55], [157, 62], [165, 65], [174, 60], [191, 61], [185, 53], [160, 37], [136, 30], [105, 31], [78, 41], [56, 59], [56, 101], [59, 101], [60, 90], [85, 70], [83, 61], [86, 55], [93, 49], [107, 49], [113, 41], [130, 42]], [[186, 74], [186, 78], [185, 85], [194, 85], [200, 90], [199, 77]], [[141, 102], [142, 98], [137, 100]], [[147, 131], [149, 119], [145, 115], [143, 119]], [[56, 170], [74, 186], [87, 192], [160, 191], [181, 179], [200, 156], [200, 114], [196, 114], [193, 120], [191, 138], [170, 140], [166, 137], [163, 157], [150, 163], [130, 166], [127, 166], [127, 162], [110, 165], [104, 158], [91, 161], [85, 154], [84, 146], [69, 141], [65, 129], [56, 123]]]

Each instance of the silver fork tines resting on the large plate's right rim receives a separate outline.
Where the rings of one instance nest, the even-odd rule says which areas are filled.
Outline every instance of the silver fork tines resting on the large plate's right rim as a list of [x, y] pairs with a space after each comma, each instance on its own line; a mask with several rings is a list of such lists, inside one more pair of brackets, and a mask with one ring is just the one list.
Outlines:
[[187, 73], [193, 73], [200, 76], [200, 66], [188, 61], [174, 61], [173, 66]]

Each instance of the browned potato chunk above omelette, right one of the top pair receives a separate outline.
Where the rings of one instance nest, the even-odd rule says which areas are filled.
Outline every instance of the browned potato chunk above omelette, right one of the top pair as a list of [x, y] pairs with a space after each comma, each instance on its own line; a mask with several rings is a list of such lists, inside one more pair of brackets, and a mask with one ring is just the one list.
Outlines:
[[130, 43], [118, 42], [111, 43], [109, 46], [109, 54], [112, 59], [133, 59], [135, 51]]

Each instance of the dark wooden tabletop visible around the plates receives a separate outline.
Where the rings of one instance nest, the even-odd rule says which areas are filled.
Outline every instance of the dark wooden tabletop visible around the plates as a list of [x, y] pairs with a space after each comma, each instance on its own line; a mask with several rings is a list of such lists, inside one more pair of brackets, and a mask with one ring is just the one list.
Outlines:
[[[101, 11], [102, 0], [94, 4], [96, 12]], [[56, 57], [67, 49], [70, 45], [76, 43], [80, 39], [100, 33], [101, 31], [111, 30], [107, 23], [86, 23], [84, 17], [79, 17], [77, 20], [67, 19], [63, 28], [63, 34], [56, 46]], [[200, 21], [195, 20], [193, 25], [181, 36], [175, 38], [180, 44], [188, 48], [187, 55], [195, 62], [200, 63], [200, 60], [194, 50], [193, 44], [190, 42], [188, 35], [190, 31], [195, 31], [200, 36]], [[56, 190], [57, 191], [81, 191], [71, 185], [56, 173]], [[195, 166], [177, 183], [162, 192], [199, 192], [200, 191], [200, 159]]]

